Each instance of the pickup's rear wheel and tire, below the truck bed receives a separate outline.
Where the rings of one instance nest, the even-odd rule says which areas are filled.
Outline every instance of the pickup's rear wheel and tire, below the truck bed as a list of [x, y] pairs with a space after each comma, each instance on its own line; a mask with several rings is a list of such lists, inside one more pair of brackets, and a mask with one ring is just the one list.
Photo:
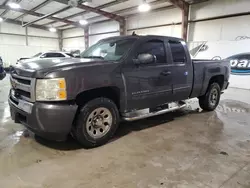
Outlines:
[[213, 111], [220, 102], [220, 86], [218, 83], [209, 85], [205, 95], [199, 97], [199, 105], [203, 110]]

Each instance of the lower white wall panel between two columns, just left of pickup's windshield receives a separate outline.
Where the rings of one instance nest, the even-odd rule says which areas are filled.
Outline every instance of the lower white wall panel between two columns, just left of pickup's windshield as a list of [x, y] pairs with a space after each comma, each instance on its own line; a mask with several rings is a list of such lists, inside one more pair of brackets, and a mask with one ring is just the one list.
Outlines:
[[63, 49], [67, 51], [71, 50], [85, 50], [84, 37], [77, 37], [63, 40]]

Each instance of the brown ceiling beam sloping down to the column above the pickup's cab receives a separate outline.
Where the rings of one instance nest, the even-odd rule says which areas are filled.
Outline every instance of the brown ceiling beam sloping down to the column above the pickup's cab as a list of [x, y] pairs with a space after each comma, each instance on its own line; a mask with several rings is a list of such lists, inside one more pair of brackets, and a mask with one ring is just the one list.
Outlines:
[[[54, 0], [54, 1], [56, 1], [58, 3], [65, 4], [65, 5], [68, 5], [68, 0]], [[86, 10], [86, 11], [89, 11], [89, 12], [94, 12], [96, 14], [103, 15], [103, 16], [109, 18], [109, 19], [116, 20], [118, 22], [120, 22], [120, 21], [123, 22], [123, 20], [125, 19], [122, 16], [119, 16], [119, 15], [116, 15], [116, 14], [113, 14], [113, 13], [110, 13], [110, 12], [106, 12], [106, 11], [101, 10], [101, 9], [93, 8], [93, 7], [84, 5], [84, 4], [78, 4], [77, 8], [80, 8], [80, 9], [83, 9], [83, 10]]]

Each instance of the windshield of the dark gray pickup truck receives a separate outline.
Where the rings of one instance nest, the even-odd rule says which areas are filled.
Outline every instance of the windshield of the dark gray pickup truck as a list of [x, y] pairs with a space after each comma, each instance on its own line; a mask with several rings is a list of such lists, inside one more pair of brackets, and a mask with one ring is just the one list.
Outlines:
[[99, 58], [107, 61], [117, 61], [131, 48], [135, 38], [120, 40], [103, 40], [81, 53], [81, 58]]

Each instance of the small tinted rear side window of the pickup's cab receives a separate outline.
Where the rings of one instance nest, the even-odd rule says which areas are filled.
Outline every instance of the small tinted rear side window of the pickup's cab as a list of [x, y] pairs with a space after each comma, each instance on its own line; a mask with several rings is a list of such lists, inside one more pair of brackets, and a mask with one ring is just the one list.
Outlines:
[[169, 41], [174, 63], [186, 63], [186, 53], [183, 45], [177, 41]]

